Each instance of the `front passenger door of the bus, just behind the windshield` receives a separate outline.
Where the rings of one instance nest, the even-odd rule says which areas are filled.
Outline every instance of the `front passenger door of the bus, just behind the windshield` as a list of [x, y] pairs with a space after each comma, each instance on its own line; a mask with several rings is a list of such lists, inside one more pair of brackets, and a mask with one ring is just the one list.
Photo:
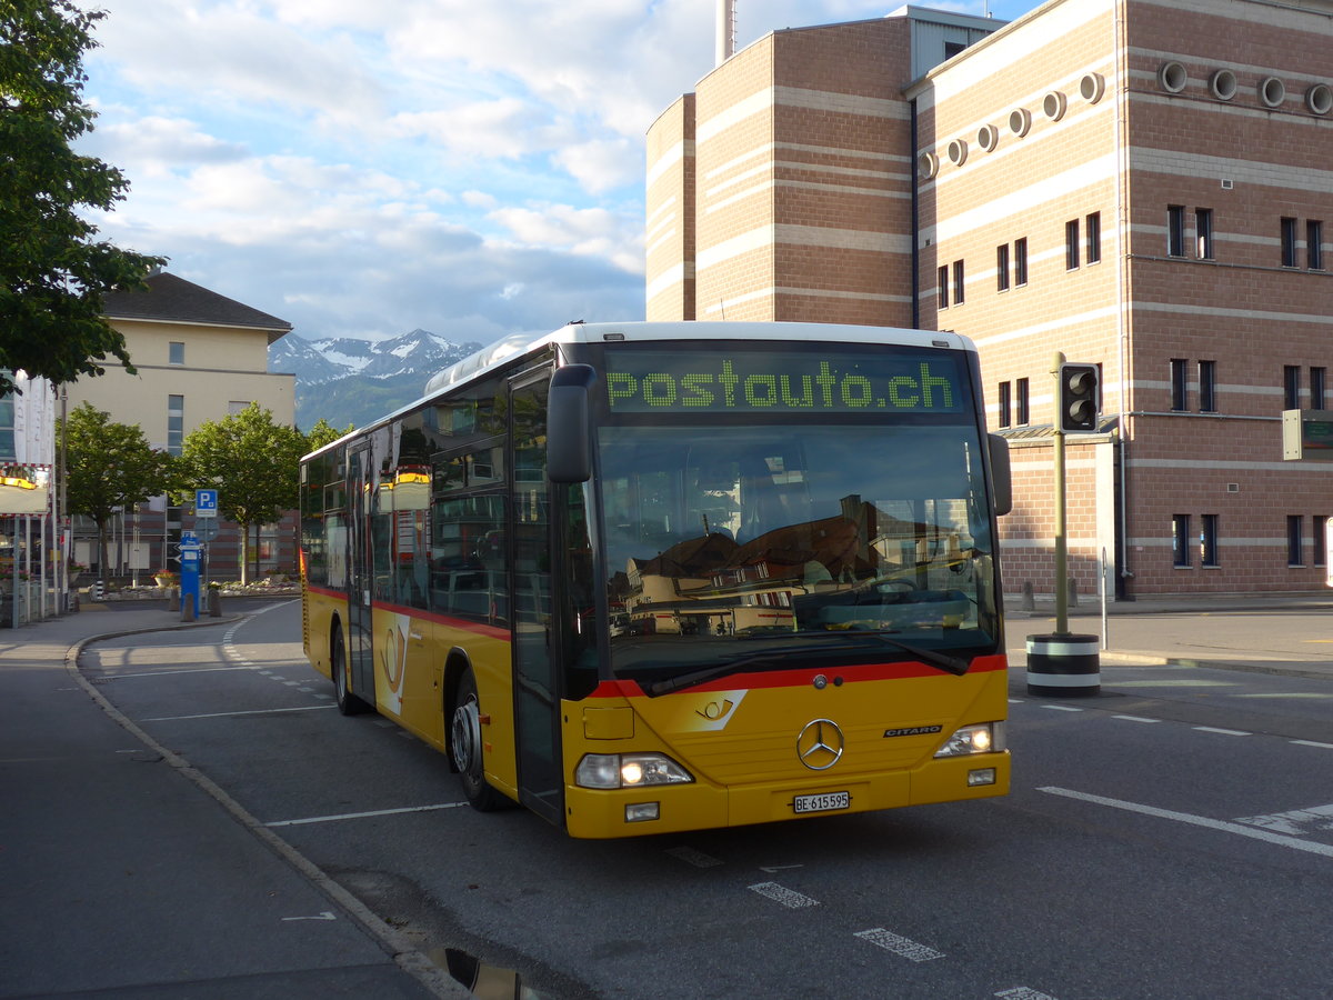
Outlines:
[[547, 485], [547, 387], [551, 371], [509, 384], [513, 460], [513, 675], [519, 792], [552, 823], [564, 820], [560, 693], [551, 599], [551, 499]]

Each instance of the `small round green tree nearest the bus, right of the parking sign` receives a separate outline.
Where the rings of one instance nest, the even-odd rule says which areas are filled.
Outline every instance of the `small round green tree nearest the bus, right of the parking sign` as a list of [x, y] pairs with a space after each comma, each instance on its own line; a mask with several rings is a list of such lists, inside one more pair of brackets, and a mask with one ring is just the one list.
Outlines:
[[217, 489], [221, 516], [241, 528], [241, 583], [249, 580], [251, 528], [257, 532], [297, 505], [304, 453], [305, 435], [275, 424], [272, 411], [257, 403], [221, 420], [205, 420], [181, 444], [181, 499], [192, 500], [200, 487]]

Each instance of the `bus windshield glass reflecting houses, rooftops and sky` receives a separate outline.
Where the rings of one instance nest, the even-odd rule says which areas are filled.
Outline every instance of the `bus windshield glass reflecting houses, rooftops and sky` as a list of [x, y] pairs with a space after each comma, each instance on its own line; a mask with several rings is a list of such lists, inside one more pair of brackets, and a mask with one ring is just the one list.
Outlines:
[[600, 449], [617, 675], [998, 639], [972, 427], [609, 427]]

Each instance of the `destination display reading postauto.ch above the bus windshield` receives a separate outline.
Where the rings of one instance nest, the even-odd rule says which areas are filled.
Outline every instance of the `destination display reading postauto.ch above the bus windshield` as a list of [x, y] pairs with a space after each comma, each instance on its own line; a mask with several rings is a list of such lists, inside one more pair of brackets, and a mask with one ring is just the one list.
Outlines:
[[957, 413], [957, 353], [608, 351], [613, 413]]

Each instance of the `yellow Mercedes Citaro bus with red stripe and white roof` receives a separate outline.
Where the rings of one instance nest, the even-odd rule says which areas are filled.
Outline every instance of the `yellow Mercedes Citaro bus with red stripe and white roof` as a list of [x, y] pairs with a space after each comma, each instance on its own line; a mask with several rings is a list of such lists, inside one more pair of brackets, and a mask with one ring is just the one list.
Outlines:
[[301, 463], [344, 713], [576, 837], [1009, 788], [1009, 460], [954, 333], [571, 324]]

